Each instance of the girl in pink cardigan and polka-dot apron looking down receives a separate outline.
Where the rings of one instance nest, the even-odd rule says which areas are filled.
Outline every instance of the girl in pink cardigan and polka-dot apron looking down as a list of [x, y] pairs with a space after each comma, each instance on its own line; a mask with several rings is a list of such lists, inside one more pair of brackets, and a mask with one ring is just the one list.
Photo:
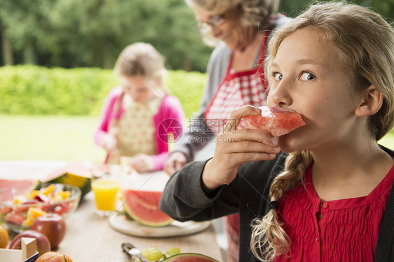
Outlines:
[[152, 45], [134, 43], [119, 54], [115, 72], [121, 86], [107, 96], [95, 143], [107, 151], [105, 163], [122, 158], [138, 172], [161, 170], [169, 135], [182, 135], [184, 124], [181, 103], [163, 86], [163, 57]]

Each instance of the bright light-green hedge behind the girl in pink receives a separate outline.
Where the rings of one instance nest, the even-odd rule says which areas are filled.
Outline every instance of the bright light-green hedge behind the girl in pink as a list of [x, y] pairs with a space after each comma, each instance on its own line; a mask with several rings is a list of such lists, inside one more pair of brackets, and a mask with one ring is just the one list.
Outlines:
[[[198, 110], [205, 74], [169, 71], [166, 84], [186, 117]], [[0, 68], [0, 113], [8, 115], [98, 115], [109, 89], [118, 85], [113, 71], [100, 68]]]

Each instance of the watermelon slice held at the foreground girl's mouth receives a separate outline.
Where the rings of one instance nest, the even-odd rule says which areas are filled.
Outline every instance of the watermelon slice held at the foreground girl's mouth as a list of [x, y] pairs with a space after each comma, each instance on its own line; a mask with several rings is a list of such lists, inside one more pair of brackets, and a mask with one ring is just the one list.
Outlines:
[[266, 106], [259, 108], [261, 109], [261, 115], [247, 115], [243, 117], [247, 129], [257, 129], [277, 137], [305, 125], [301, 115], [297, 112], [271, 110], [271, 108]]

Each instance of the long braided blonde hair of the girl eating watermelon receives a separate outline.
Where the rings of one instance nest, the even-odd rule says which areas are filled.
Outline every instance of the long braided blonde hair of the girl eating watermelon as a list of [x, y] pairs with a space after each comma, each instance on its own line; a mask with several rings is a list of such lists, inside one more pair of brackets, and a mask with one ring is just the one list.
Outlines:
[[[379, 14], [346, 2], [313, 5], [290, 24], [273, 32], [266, 72], [283, 39], [304, 27], [317, 28], [324, 40], [337, 50], [339, 60], [353, 79], [351, 87], [361, 91], [374, 85], [383, 94], [383, 105], [368, 119], [372, 138], [376, 141], [382, 138], [394, 124], [394, 31], [390, 24]], [[271, 201], [277, 201], [303, 183], [305, 170], [312, 161], [308, 150], [289, 154], [285, 170], [271, 184]], [[251, 247], [261, 261], [272, 261], [274, 256], [290, 252], [290, 238], [281, 226], [276, 210], [254, 219]]]

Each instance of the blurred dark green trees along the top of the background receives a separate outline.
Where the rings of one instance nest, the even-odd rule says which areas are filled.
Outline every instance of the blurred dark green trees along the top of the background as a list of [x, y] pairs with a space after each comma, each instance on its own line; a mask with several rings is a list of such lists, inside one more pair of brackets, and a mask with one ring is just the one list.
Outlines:
[[[281, 0], [299, 15], [310, 0]], [[394, 0], [354, 0], [390, 20]], [[212, 48], [184, 0], [0, 0], [2, 64], [112, 68], [119, 52], [151, 43], [170, 69], [205, 71]]]

